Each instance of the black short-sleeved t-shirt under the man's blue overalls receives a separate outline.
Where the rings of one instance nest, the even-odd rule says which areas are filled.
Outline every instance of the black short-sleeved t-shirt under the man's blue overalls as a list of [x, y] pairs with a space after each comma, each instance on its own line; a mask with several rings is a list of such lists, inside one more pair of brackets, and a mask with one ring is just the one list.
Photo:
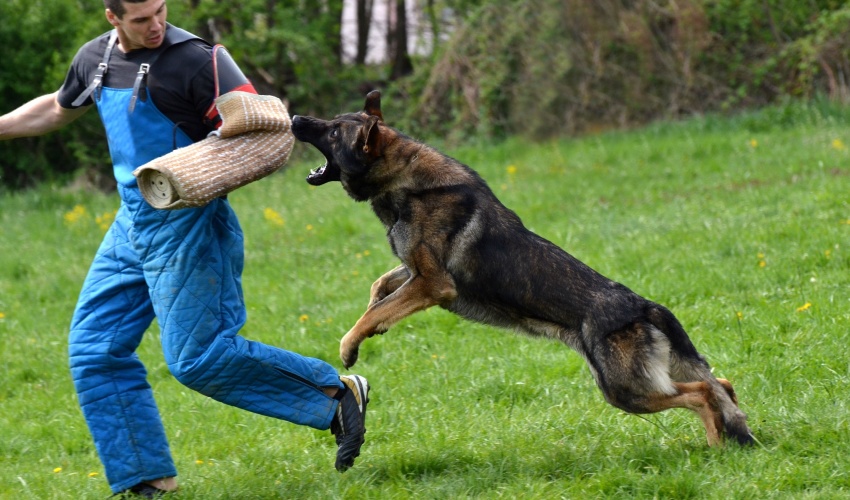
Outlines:
[[[204, 123], [204, 114], [215, 98], [212, 47], [200, 39], [169, 44], [166, 40], [156, 49], [137, 49], [127, 53], [116, 45], [109, 57], [103, 85], [110, 88], [132, 88], [142, 63], [151, 64], [146, 88], [157, 109], [193, 140], [207, 136], [212, 127]], [[59, 89], [59, 105], [73, 108], [71, 104], [94, 79], [98, 65], [109, 42], [107, 32], [83, 45], [74, 56], [65, 83]], [[92, 104], [89, 97], [84, 106]]]

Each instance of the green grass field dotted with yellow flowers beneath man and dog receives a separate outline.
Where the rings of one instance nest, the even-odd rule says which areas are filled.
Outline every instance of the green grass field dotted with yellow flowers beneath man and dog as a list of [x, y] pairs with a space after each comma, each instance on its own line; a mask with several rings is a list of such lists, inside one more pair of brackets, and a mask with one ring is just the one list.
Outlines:
[[[707, 448], [687, 411], [624, 414], [566, 347], [434, 309], [364, 344], [367, 444], [338, 474], [330, 433], [182, 387], [154, 327], [140, 355], [176, 498], [847, 498], [848, 120], [789, 105], [451, 151], [527, 226], [670, 307], [735, 384], [753, 448]], [[341, 367], [338, 340], [396, 260], [369, 207], [338, 184], [309, 187], [320, 159], [300, 158], [231, 195], [246, 234], [244, 334]], [[66, 335], [95, 218], [116, 203], [58, 188], [0, 198], [0, 498], [109, 494]]]

